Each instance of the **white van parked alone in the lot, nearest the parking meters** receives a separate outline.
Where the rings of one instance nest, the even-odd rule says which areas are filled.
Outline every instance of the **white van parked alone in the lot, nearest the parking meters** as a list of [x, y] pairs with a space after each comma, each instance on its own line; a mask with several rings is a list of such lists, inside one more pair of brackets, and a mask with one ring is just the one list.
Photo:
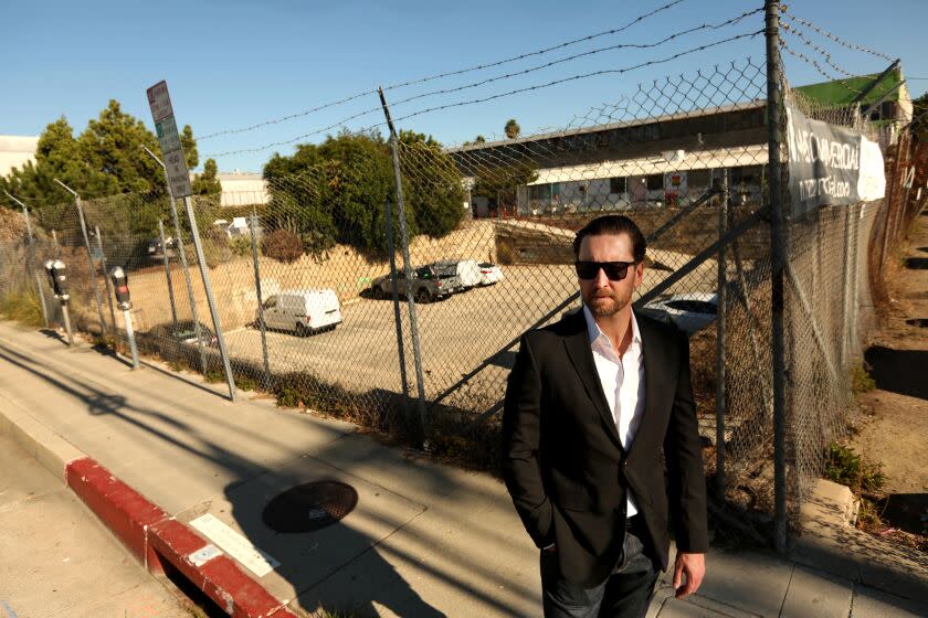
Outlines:
[[341, 323], [341, 306], [331, 289], [281, 290], [264, 301], [263, 311], [266, 328], [299, 337]]

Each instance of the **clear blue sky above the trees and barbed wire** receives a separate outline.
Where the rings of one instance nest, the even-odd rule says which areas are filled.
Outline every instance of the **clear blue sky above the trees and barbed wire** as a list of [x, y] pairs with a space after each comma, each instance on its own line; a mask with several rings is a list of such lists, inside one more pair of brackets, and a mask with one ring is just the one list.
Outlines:
[[[190, 124], [197, 136], [207, 136], [295, 114], [372, 90], [378, 85], [489, 63], [616, 29], [668, 1], [3, 0], [0, 134], [39, 135], [45, 125], [62, 115], [77, 134], [110, 98], [119, 100], [125, 110], [150, 127], [145, 90], [167, 79], [178, 124]], [[761, 0], [683, 0], [620, 34], [496, 68], [389, 90], [388, 100], [461, 86], [600, 46], [654, 42], [761, 6]], [[798, 0], [788, 6], [795, 15], [833, 34], [901, 58], [907, 77], [928, 77], [925, 43], [928, 1]], [[604, 51], [518, 78], [397, 105], [393, 115], [401, 117], [433, 105], [626, 67], [761, 28], [762, 14], [757, 14], [725, 30], [681, 36], [657, 50]], [[834, 63], [851, 73], [879, 72], [888, 64], [841, 47], [814, 32], [810, 31], [810, 35], [832, 53]], [[792, 47], [814, 55], [800, 41], [787, 41]], [[488, 139], [498, 137], [510, 117], [518, 119], [524, 134], [563, 127], [590, 108], [615, 103], [623, 94], [633, 93], [639, 83], [747, 56], [756, 63], [763, 62], [762, 36], [658, 66], [425, 114], [401, 121], [400, 126], [432, 134], [445, 143], [473, 139], [477, 134]], [[825, 81], [804, 62], [789, 55], [785, 62], [793, 85]], [[928, 79], [914, 79], [909, 87], [918, 96], [928, 89]], [[377, 105], [378, 99], [370, 94], [260, 130], [201, 140], [200, 160], [209, 154], [289, 140]], [[380, 114], [369, 114], [349, 121], [348, 126], [357, 129], [379, 121], [382, 121]], [[323, 132], [302, 141], [319, 141], [324, 137]], [[274, 151], [289, 153], [293, 147], [278, 146], [217, 159], [221, 171], [234, 168], [261, 171]]]

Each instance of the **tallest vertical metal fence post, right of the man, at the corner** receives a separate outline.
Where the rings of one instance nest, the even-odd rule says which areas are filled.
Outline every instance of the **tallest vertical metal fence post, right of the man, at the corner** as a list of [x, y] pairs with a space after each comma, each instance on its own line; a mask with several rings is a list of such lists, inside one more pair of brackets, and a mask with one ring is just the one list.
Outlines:
[[773, 373], [773, 501], [774, 545], [787, 551], [787, 408], [785, 353], [783, 345], [783, 273], [787, 263], [787, 237], [783, 221], [780, 169], [780, 2], [764, 0], [764, 39], [767, 42], [767, 137], [770, 181], [767, 183], [770, 203], [771, 256], [771, 349]]

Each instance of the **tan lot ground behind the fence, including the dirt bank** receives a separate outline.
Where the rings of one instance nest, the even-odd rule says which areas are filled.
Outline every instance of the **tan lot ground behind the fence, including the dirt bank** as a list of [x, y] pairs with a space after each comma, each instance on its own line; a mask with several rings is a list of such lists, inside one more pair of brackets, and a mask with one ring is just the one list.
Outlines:
[[[441, 241], [416, 238], [411, 247], [412, 260], [423, 264], [440, 258], [493, 258], [495, 234], [492, 222], [473, 222]], [[651, 289], [677, 267], [688, 255], [650, 252], [651, 258], [665, 269], [647, 269], [642, 291]], [[327, 382], [338, 382], [352, 391], [400, 388], [393, 303], [369, 298], [370, 280], [389, 270], [386, 263], [370, 263], [356, 252], [337, 247], [328, 259], [317, 262], [304, 256], [292, 265], [261, 258], [263, 296], [277, 289], [328, 287], [342, 303], [344, 323], [335, 331], [300, 339], [293, 334], [271, 332], [267, 335], [270, 364], [276, 372], [309, 371]], [[576, 291], [576, 277], [570, 264], [512, 265], [503, 267], [505, 279], [486, 288], [475, 288], [446, 300], [416, 305], [422, 351], [422, 369], [428, 397], [434, 397], [473, 370], [503, 345], [518, 337], [539, 318], [551, 311]], [[708, 260], [671, 291], [715, 290], [715, 260]], [[199, 319], [209, 324], [205, 295], [199, 273], [191, 270]], [[260, 331], [250, 324], [256, 312], [254, 273], [250, 257], [239, 257], [210, 271], [213, 292], [220, 305], [220, 317], [226, 344], [234, 359], [261, 364]], [[190, 317], [182, 270], [171, 269], [178, 317]], [[171, 320], [168, 287], [164, 268], [147, 268], [130, 277], [134, 318], [139, 331]], [[405, 332], [408, 374], [414, 384], [412, 341], [405, 302], [401, 305]], [[122, 324], [120, 324], [122, 326]], [[512, 354], [481, 373], [473, 387], [458, 395], [462, 407], [483, 409], [497, 401], [505, 386]], [[454, 404], [455, 402], [449, 402]]]

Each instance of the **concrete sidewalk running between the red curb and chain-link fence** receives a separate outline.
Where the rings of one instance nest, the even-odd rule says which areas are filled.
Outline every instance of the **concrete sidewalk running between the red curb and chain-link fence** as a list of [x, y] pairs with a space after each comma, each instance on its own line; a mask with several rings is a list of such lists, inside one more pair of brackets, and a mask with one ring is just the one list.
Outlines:
[[[56, 337], [9, 323], [0, 323], [0, 426], [3, 416], [46, 431], [41, 439], [18, 433], [36, 451], [42, 440], [63, 438], [177, 521], [211, 522], [203, 534], [294, 614], [540, 615], [537, 551], [502, 482], [489, 476], [268, 399], [231, 404], [196, 376], [160, 365], [131, 372], [113, 355], [67, 349]], [[44, 460], [60, 469], [54, 449]], [[270, 499], [314, 480], [348, 483], [357, 508], [313, 533], [264, 525]], [[250, 556], [244, 540], [270, 558]], [[818, 557], [805, 554], [811, 566], [714, 551], [699, 594], [677, 601], [662, 580], [650, 616], [928, 614], [911, 600], [926, 598], [918, 577], [915, 588], [911, 580], [865, 586], [871, 582], [860, 568], [842, 571], [853, 561], [834, 547], [819, 550]], [[264, 573], [268, 562], [278, 564]]]

